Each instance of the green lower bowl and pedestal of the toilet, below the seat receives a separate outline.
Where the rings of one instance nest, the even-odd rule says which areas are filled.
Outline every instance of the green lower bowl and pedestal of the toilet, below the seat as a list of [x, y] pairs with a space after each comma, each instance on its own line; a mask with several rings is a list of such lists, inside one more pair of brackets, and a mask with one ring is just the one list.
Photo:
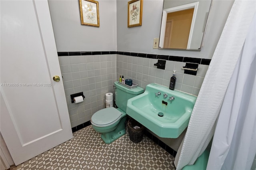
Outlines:
[[125, 116], [121, 119], [121, 121], [118, 124], [118, 127], [115, 130], [108, 132], [108, 133], [103, 133], [100, 135], [100, 137], [106, 144], [110, 144], [110, 143], [114, 142], [116, 139], [118, 139], [121, 136], [123, 136], [124, 134], [126, 134], [126, 130], [125, 130], [126, 118], [127, 117]]

